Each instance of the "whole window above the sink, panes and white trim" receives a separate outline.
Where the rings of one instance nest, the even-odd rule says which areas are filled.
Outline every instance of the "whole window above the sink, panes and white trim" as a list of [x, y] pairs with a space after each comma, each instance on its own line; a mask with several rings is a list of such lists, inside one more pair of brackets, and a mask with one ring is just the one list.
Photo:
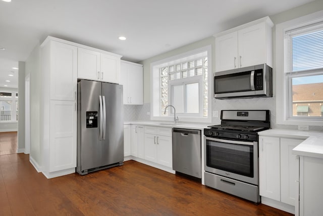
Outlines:
[[[171, 120], [174, 110], [180, 120], [210, 120], [208, 80], [210, 46], [152, 63], [151, 119]], [[190, 118], [190, 119], [188, 119]]]

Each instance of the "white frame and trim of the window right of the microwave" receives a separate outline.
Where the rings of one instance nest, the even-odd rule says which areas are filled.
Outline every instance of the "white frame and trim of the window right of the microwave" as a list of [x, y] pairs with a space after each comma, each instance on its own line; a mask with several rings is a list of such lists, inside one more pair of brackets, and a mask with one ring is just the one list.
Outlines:
[[[304, 76], [302, 72], [286, 74], [288, 67], [288, 57], [286, 55], [287, 43], [285, 34], [292, 29], [300, 28], [306, 25], [315, 24], [323, 21], [323, 11], [299, 17], [276, 25], [276, 122], [277, 124], [287, 125], [322, 125], [321, 117], [308, 116], [290, 116], [293, 104], [290, 103], [292, 97], [293, 77]], [[322, 69], [313, 70], [306, 75], [323, 74]]]

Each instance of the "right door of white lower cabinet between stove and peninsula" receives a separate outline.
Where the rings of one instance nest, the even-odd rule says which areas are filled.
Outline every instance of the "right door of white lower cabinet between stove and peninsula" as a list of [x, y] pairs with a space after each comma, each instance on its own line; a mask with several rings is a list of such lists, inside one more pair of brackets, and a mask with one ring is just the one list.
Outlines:
[[290, 205], [296, 204], [296, 187], [298, 183], [299, 163], [293, 148], [304, 140], [281, 138], [281, 201]]

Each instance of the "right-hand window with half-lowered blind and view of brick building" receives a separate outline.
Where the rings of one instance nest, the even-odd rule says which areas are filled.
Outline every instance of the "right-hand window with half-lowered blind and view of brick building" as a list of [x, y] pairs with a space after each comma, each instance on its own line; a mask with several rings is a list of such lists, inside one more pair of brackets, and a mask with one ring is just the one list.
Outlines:
[[323, 102], [323, 22], [292, 29], [285, 34], [289, 117], [321, 116], [319, 104]]

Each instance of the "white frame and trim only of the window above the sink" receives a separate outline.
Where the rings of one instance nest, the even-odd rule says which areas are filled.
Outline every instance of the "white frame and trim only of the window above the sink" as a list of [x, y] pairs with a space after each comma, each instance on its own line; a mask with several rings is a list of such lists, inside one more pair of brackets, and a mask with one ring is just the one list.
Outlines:
[[[181, 115], [176, 113], [180, 117], [180, 121], [190, 121], [190, 122], [211, 122], [211, 101], [212, 101], [212, 94], [210, 88], [212, 86], [212, 79], [211, 77], [211, 71], [212, 71], [212, 50], [211, 45], [207, 45], [205, 47], [197, 48], [185, 53], [181, 53], [163, 60], [155, 61], [150, 64], [150, 120], [167, 120], [167, 121], [173, 121], [174, 116], [171, 114], [168, 116], [161, 116], [160, 115], [160, 103], [159, 103], [159, 68], [165, 67], [172, 64], [178, 64], [182, 61], [191, 61], [193, 59], [197, 59], [199, 57], [202, 57], [201, 54], [206, 53], [207, 56], [207, 117], [203, 117], [203, 108], [200, 108], [200, 113], [197, 115]], [[188, 77], [189, 78], [189, 77]], [[202, 106], [202, 99], [203, 99], [203, 75], [201, 76], [202, 83], [199, 83], [199, 96], [200, 96], [200, 102], [199, 106]], [[183, 82], [183, 79], [181, 80]], [[175, 82], [174, 82], [175, 83]], [[169, 89], [170, 90], [170, 89]], [[170, 97], [169, 92], [169, 97]], [[170, 98], [169, 98], [170, 100]], [[172, 112], [172, 111], [171, 111]]]

